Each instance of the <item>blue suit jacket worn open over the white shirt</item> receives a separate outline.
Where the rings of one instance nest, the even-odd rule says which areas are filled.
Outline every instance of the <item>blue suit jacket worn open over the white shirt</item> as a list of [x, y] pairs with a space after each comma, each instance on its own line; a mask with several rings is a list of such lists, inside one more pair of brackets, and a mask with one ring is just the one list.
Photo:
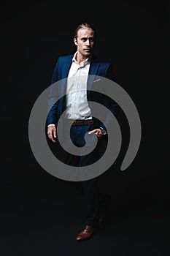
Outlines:
[[[66, 79], [69, 74], [69, 68], [72, 64], [72, 58], [74, 53], [68, 56], [60, 56], [58, 61], [55, 65], [55, 69], [53, 71], [53, 78], [52, 83], [50, 86], [50, 95], [48, 99], [48, 115], [47, 115], [47, 125], [48, 124], [55, 124], [58, 123], [58, 118], [60, 118], [65, 108], [65, 94], [66, 91]], [[90, 69], [88, 79], [88, 91], [87, 97], [88, 101], [98, 102], [101, 105], [105, 105], [114, 115], [117, 115], [118, 112], [118, 105], [116, 102], [112, 101], [104, 94], [98, 94], [96, 91], [93, 91], [93, 78], [95, 75], [101, 76], [104, 78], [109, 78], [109, 80], [115, 80], [115, 75], [112, 70], [112, 64], [107, 61], [101, 61], [97, 59], [95, 56], [92, 56], [90, 61]], [[56, 82], [58, 82], [58, 87], [56, 90]], [[54, 86], [55, 84], [55, 86]], [[54, 90], [55, 87], [55, 90]], [[56, 96], [59, 97], [58, 101], [56, 102]], [[109, 116], [106, 113], [103, 113], [106, 118], [104, 124], [109, 123]], [[98, 122], [98, 127], [105, 128], [104, 124]]]

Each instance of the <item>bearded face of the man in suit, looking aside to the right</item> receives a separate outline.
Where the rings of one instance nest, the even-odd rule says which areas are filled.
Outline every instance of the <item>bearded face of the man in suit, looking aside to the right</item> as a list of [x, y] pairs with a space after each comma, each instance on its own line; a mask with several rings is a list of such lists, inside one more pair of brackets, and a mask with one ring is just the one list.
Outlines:
[[94, 32], [92, 29], [79, 29], [77, 38], [74, 38], [74, 43], [77, 45], [78, 54], [84, 58], [88, 58], [92, 53], [94, 46]]

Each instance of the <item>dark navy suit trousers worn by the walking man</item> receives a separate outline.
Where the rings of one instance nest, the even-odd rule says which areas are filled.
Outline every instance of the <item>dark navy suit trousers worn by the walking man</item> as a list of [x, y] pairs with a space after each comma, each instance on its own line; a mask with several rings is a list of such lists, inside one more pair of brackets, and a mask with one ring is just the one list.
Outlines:
[[[69, 125], [69, 124], [68, 124]], [[81, 149], [82, 146], [85, 146], [85, 133], [98, 128], [95, 124], [88, 125], [72, 125], [70, 128], [70, 137], [72, 139], [72, 143], [75, 146]], [[64, 128], [63, 128], [64, 135]], [[92, 135], [93, 136], [96, 135]], [[103, 136], [102, 136], [103, 137]], [[64, 136], [63, 136], [64, 140]], [[67, 143], [67, 142], [64, 142]], [[106, 148], [106, 140], [104, 138], [98, 138], [98, 143], [96, 148], [87, 155], [74, 155], [69, 154], [66, 151], [62, 151], [61, 156], [59, 157], [62, 162], [66, 163], [66, 165], [72, 166], [87, 166], [93, 164], [94, 162], [104, 154]], [[98, 226], [98, 208], [99, 208], [99, 193], [98, 193], [98, 177], [91, 178], [86, 181], [73, 181], [74, 183], [79, 183], [77, 187], [79, 187], [80, 192], [84, 197], [84, 207], [85, 207], [85, 225], [91, 225], [93, 227]]]

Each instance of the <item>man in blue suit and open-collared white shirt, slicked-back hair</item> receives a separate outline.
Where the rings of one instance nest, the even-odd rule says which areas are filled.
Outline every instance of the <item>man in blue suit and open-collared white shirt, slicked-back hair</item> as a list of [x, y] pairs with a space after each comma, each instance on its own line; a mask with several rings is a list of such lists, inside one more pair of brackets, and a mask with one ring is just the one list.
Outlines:
[[[88, 91], [88, 75], [97, 75], [111, 80], [115, 79], [112, 65], [93, 56], [95, 41], [96, 31], [93, 26], [89, 23], [82, 23], [77, 26], [74, 34], [74, 44], [77, 50], [69, 56], [59, 57], [53, 72], [52, 91], [55, 82], [64, 80], [64, 78], [68, 78], [68, 80], [62, 87], [66, 97], [59, 98], [53, 106], [49, 103], [50, 111], [47, 116], [48, 138], [53, 143], [58, 141], [57, 125], [63, 111], [65, 111], [64, 118], [67, 121], [66, 125], [70, 126], [70, 136], [75, 146], [80, 148], [85, 146], [85, 134], [87, 132], [89, 135], [94, 135], [98, 138], [97, 149], [93, 151], [93, 154], [74, 156], [64, 152], [61, 157], [63, 158], [62, 161], [70, 166], [88, 167], [104, 154], [107, 145], [106, 127], [97, 118], [93, 117], [88, 101], [98, 102], [98, 99], [100, 99], [101, 104], [107, 105], [107, 108], [117, 115], [118, 106], [115, 102], [105, 97], [104, 94], [98, 97], [96, 93], [89, 93]], [[82, 76], [82, 80], [78, 79]], [[60, 94], [60, 90], [58, 90], [58, 94]], [[62, 129], [64, 130], [64, 127]], [[90, 238], [103, 218], [97, 181], [98, 178], [91, 178], [81, 182], [85, 197], [85, 225], [76, 237], [77, 241]]]

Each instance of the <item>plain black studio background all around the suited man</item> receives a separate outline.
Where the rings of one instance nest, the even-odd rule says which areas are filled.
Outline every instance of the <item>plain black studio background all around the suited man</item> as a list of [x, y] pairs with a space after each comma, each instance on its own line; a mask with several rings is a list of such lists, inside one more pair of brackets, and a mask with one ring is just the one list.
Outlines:
[[[139, 111], [142, 140], [121, 172], [129, 140], [122, 113], [120, 155], [100, 177], [101, 191], [112, 195], [106, 228], [77, 244], [82, 198], [36, 162], [28, 120], [58, 56], [75, 50], [74, 29], [83, 21], [96, 27], [96, 55], [112, 62]], [[3, 3], [1, 71], [1, 255], [169, 255], [168, 4]]]

